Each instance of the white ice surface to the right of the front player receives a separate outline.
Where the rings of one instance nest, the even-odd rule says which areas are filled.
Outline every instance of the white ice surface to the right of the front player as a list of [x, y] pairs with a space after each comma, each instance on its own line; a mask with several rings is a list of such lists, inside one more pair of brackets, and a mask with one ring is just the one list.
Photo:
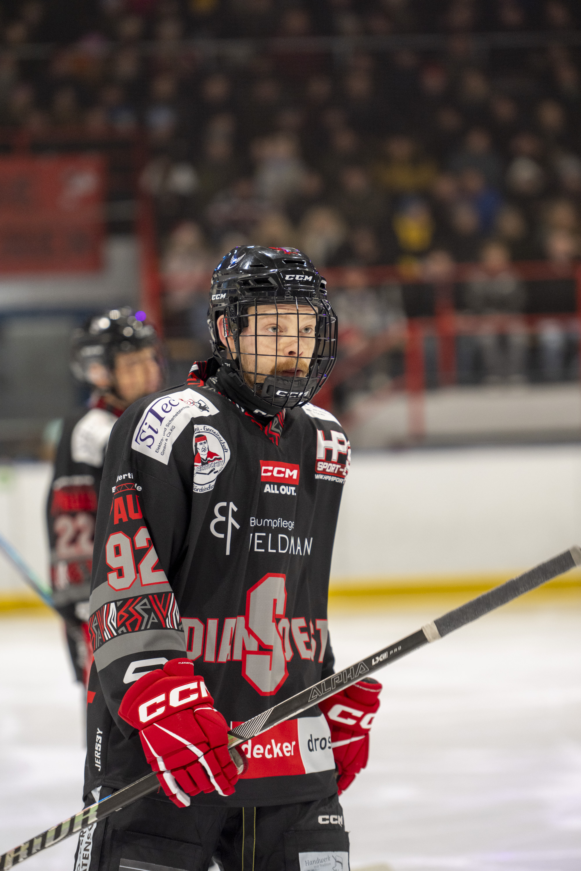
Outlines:
[[[581, 868], [581, 609], [543, 601], [377, 675], [368, 767], [342, 796], [354, 868]], [[335, 617], [338, 667], [445, 610]]]

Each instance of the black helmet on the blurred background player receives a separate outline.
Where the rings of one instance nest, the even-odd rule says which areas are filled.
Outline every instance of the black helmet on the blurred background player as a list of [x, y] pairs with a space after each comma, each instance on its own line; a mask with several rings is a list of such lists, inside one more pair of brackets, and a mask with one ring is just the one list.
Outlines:
[[71, 369], [78, 381], [92, 383], [90, 370], [94, 363], [113, 372], [117, 354], [157, 347], [158, 334], [145, 320], [145, 312], [134, 312], [130, 307], [111, 308], [78, 327], [71, 341]]

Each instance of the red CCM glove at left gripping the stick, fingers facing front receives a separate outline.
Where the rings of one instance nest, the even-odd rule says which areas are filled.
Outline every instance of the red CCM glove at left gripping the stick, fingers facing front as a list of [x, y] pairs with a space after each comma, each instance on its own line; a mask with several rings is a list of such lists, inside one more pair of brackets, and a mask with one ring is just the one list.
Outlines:
[[174, 805], [187, 807], [188, 795], [214, 789], [232, 795], [239, 771], [228, 752], [226, 720], [189, 659], [172, 659], [163, 672], [139, 678], [125, 692], [119, 716], [138, 729], [145, 757]]

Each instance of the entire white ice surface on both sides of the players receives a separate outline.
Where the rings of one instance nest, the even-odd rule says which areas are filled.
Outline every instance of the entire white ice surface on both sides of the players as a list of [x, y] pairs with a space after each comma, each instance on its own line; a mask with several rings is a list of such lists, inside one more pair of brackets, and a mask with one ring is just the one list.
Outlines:
[[[336, 611], [337, 665], [449, 607]], [[512, 605], [381, 672], [342, 796], [354, 869], [579, 871], [581, 605]], [[0, 620], [0, 852], [81, 807], [81, 698], [57, 622]], [[75, 838], [27, 861], [71, 871]]]

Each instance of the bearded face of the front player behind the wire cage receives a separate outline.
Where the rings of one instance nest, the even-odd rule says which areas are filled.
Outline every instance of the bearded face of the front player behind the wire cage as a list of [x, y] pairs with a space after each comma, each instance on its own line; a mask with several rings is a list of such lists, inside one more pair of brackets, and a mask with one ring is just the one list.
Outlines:
[[[267, 375], [307, 376], [314, 354], [316, 315], [310, 306], [297, 309], [283, 303], [277, 309], [266, 305], [248, 309], [248, 326], [240, 333], [240, 361], [250, 387], [261, 384]], [[235, 355], [233, 341], [226, 341]]]

